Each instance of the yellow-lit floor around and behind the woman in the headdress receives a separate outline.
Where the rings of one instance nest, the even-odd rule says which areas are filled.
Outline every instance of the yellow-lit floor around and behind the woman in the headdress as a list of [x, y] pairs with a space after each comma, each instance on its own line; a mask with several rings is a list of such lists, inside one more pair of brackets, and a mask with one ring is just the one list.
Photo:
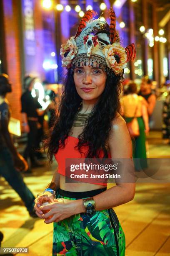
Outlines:
[[[158, 136], [153, 133], [149, 140], [150, 157], [170, 157], [170, 146], [162, 145]], [[25, 176], [35, 195], [50, 182], [54, 169], [35, 169], [33, 175]], [[125, 232], [126, 256], [170, 255], [170, 184], [139, 183], [134, 200], [114, 210]], [[29, 247], [29, 256], [52, 255], [52, 224], [30, 218], [18, 195], [2, 178], [0, 230], [4, 234], [2, 247]]]

